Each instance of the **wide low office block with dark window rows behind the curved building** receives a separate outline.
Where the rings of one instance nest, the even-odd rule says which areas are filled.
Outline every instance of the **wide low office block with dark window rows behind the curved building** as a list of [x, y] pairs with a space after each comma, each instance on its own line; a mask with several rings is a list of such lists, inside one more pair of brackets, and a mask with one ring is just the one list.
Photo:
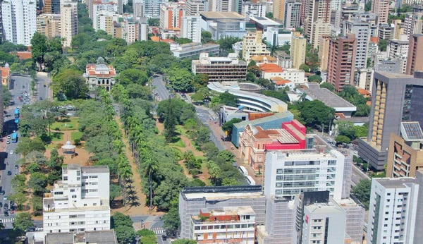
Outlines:
[[192, 73], [206, 74], [209, 83], [245, 80], [247, 63], [239, 60], [235, 54], [228, 57], [211, 57], [208, 53], [200, 54], [199, 60], [192, 60]]

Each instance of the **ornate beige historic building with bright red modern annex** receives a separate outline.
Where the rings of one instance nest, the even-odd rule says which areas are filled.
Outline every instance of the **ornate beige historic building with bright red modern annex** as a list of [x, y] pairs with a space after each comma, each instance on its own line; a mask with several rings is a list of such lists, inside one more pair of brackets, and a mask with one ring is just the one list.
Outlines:
[[264, 130], [246, 126], [239, 134], [238, 152], [243, 164], [264, 173], [265, 154], [269, 150], [299, 150], [313, 147], [314, 137], [305, 134], [305, 126], [297, 120], [282, 123], [282, 128]]

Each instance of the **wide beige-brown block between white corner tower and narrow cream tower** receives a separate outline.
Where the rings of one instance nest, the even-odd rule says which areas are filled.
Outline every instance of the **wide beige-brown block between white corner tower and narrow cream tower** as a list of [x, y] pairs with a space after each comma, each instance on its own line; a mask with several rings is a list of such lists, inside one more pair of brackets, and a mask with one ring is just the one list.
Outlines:
[[40, 14], [37, 16], [37, 32], [48, 38], [61, 37], [60, 14]]

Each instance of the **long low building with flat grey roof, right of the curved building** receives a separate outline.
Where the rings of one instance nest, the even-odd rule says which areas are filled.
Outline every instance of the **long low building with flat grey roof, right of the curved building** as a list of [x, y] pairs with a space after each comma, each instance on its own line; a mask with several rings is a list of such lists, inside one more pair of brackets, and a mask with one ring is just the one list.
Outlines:
[[330, 106], [336, 111], [356, 111], [357, 108], [345, 101], [342, 97], [339, 97], [337, 94], [327, 90], [326, 88], [320, 88], [319, 84], [309, 83], [308, 88], [298, 89], [300, 92], [305, 92], [307, 96], [311, 97], [313, 100], [320, 100], [326, 106]]

